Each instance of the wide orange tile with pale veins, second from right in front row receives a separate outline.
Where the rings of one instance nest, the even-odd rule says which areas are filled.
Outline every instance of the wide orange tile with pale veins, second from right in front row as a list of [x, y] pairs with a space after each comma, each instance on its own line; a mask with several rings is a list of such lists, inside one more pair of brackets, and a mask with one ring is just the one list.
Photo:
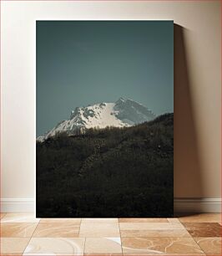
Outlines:
[[122, 238], [124, 253], [204, 254], [193, 238]]

